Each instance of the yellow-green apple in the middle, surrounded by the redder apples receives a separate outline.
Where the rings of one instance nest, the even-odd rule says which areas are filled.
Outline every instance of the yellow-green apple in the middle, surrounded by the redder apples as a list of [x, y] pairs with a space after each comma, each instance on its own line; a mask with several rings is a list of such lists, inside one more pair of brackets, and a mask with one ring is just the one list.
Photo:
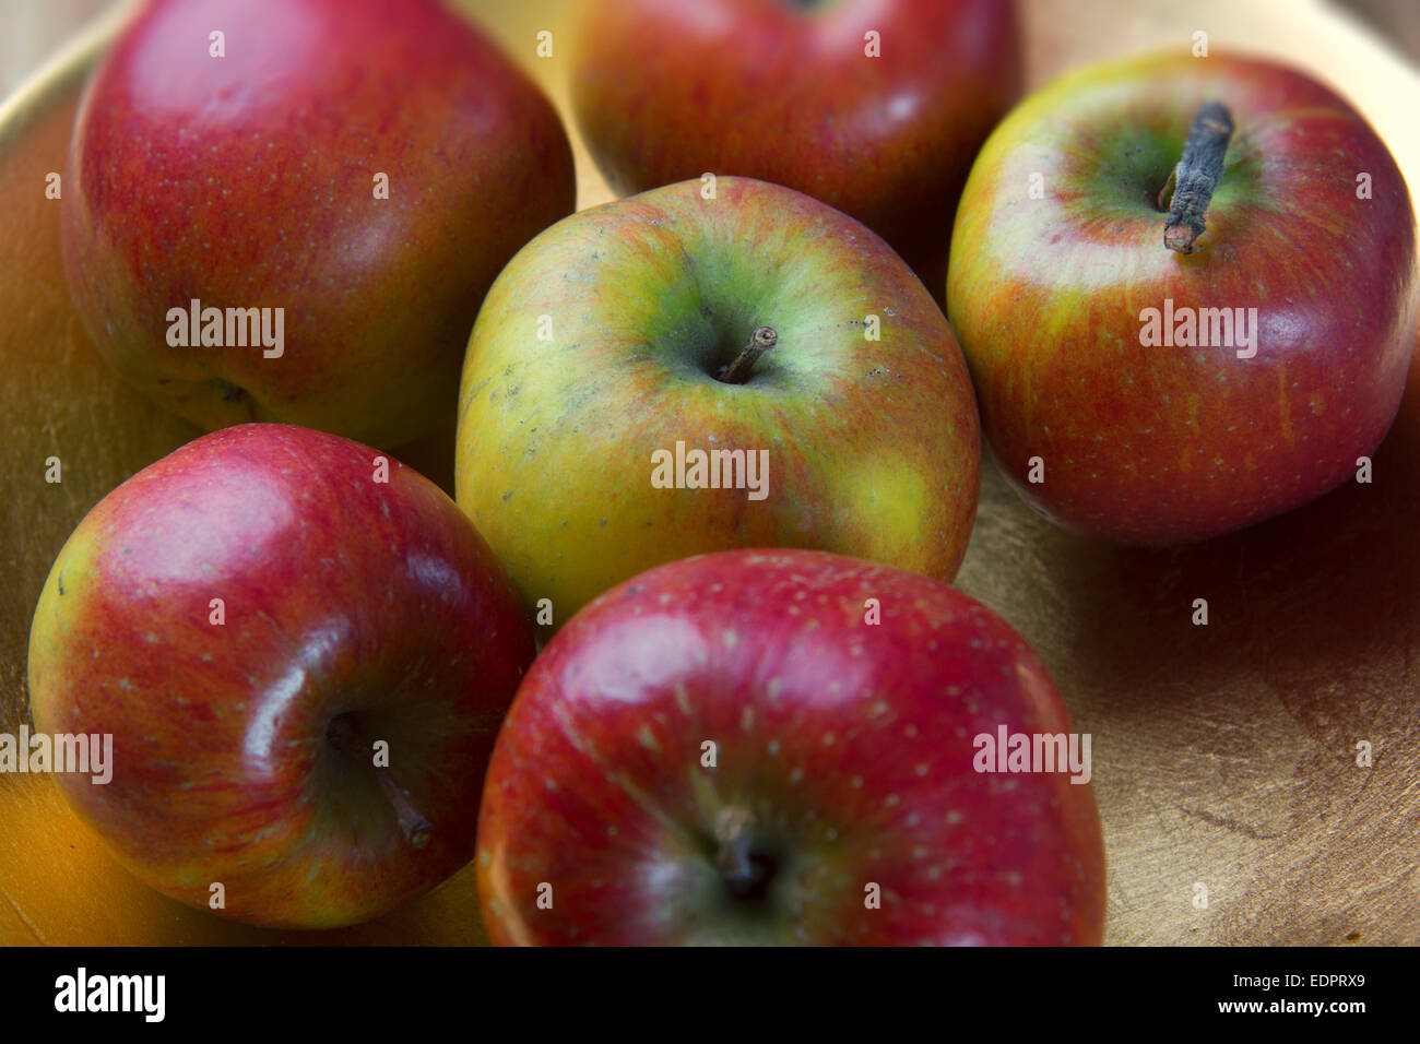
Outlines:
[[524, 247], [479, 312], [457, 437], [459, 506], [544, 634], [734, 547], [950, 580], [980, 482], [932, 295], [853, 219], [747, 178], [582, 210]]

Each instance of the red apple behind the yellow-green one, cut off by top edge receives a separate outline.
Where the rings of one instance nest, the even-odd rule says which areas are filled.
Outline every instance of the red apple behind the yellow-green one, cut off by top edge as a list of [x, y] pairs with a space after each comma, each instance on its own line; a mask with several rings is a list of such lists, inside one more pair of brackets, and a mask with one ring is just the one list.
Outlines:
[[778, 182], [941, 291], [971, 158], [1021, 89], [1012, 3], [598, 0], [582, 16], [572, 104], [619, 195], [707, 170]]

